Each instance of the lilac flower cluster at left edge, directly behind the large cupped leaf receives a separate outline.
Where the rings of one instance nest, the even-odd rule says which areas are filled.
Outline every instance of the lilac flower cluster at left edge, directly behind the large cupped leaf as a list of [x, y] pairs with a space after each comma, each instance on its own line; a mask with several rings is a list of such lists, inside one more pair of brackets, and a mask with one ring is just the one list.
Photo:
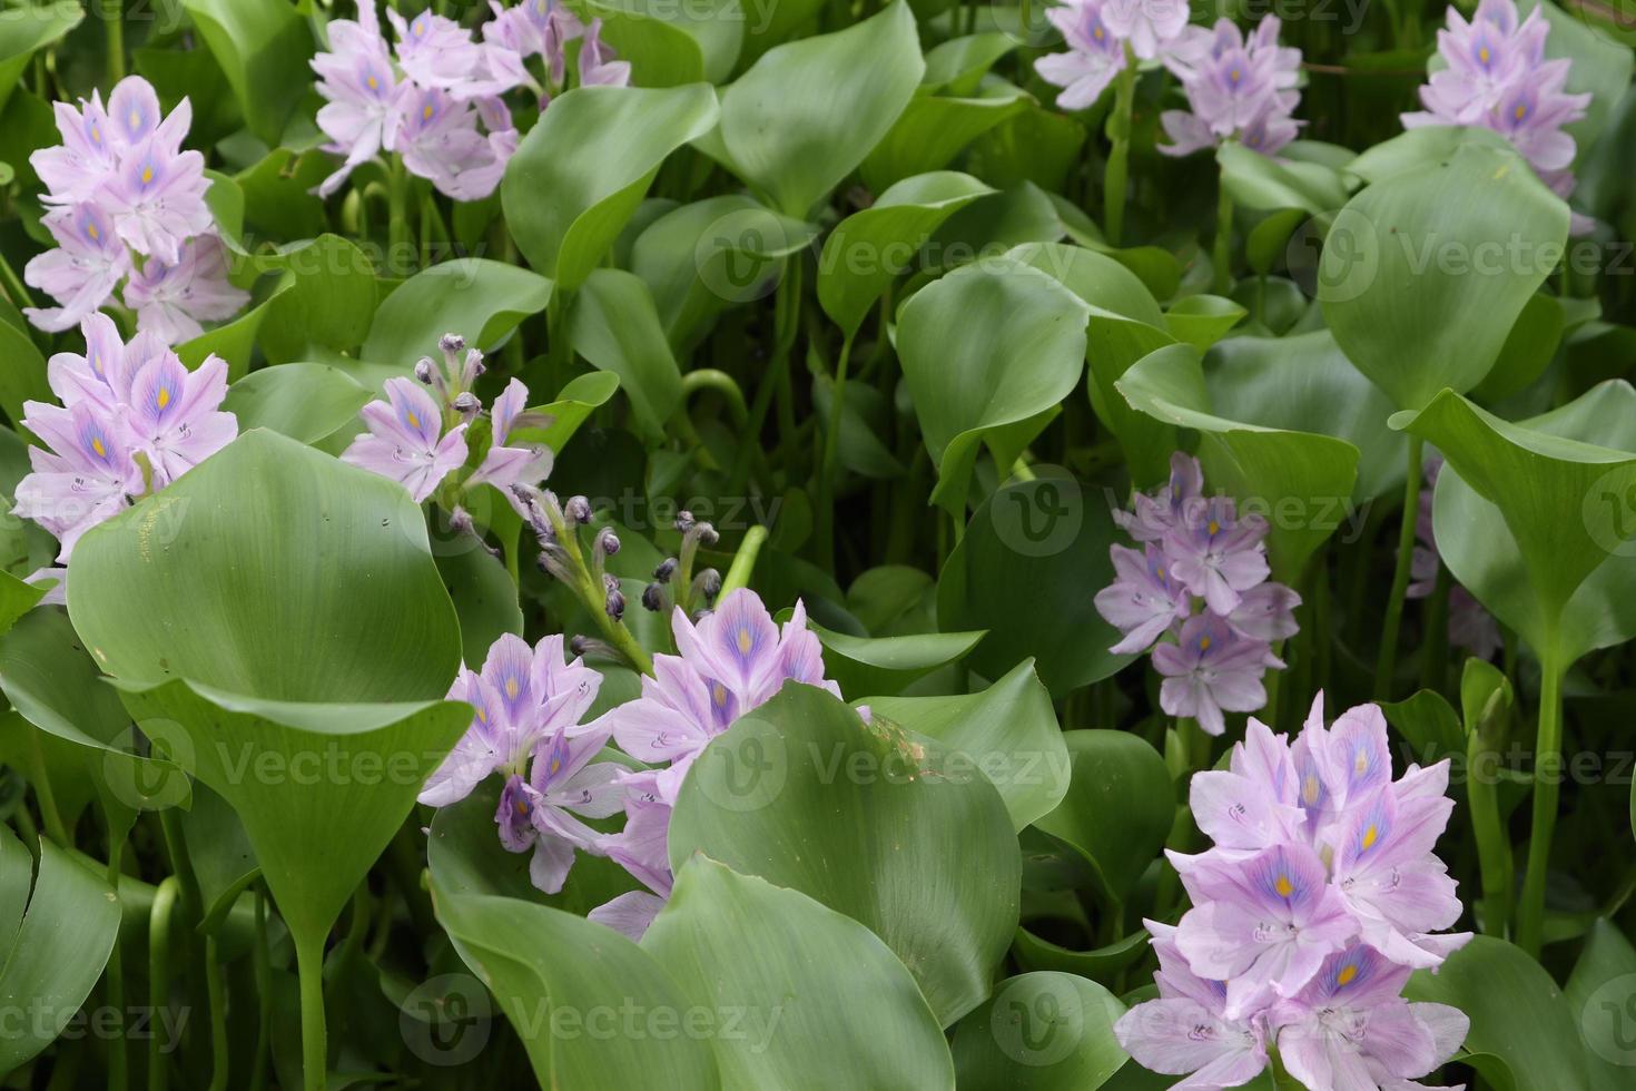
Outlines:
[[44, 448], [28, 450], [33, 473], [16, 486], [13, 512], [62, 545], [64, 564], [80, 535], [185, 474], [239, 435], [221, 411], [227, 365], [208, 357], [198, 371], [154, 332], [129, 345], [106, 314], [80, 324], [85, 355], [57, 353], [47, 379], [61, 406], [23, 402], [23, 427]]

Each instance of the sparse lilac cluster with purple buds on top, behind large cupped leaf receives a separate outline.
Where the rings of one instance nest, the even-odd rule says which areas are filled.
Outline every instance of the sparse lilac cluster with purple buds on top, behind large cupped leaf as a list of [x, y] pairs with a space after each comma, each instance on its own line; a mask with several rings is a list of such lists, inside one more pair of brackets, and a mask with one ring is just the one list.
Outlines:
[[[386, 401], [373, 401], [358, 411], [368, 432], [358, 435], [340, 456], [353, 466], [401, 481], [417, 504], [437, 492], [452, 471], [466, 465], [471, 455], [468, 429], [484, 414], [471, 389], [484, 371], [483, 353], [466, 348], [466, 342], [455, 334], [443, 335], [438, 348], [442, 366], [430, 357], [416, 365], [419, 384], [406, 378], [386, 379]], [[461, 489], [491, 484], [515, 505], [515, 486], [533, 486], [551, 473], [548, 448], [535, 443], [507, 447], [515, 429], [545, 422], [538, 414], [527, 412], [527, 404], [528, 388], [520, 379], [512, 379], [494, 399], [486, 414], [489, 445], [476, 469], [460, 483]], [[519, 512], [527, 515], [522, 507]], [[458, 507], [453, 514], [456, 522], [465, 517]]]

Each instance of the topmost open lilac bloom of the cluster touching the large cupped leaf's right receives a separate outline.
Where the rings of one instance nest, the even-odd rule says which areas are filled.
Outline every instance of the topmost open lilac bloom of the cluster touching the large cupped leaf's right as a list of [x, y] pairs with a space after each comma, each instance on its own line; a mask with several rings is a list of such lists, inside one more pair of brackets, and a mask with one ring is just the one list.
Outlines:
[[520, 636], [502, 635], [489, 646], [483, 672], [461, 667], [448, 690], [448, 700], [473, 707], [471, 726], [427, 779], [420, 801], [458, 803], [496, 770], [520, 775], [542, 741], [558, 733], [589, 733], [578, 725], [600, 685], [602, 676], [584, 661], [564, 661], [560, 635], [533, 648]]

